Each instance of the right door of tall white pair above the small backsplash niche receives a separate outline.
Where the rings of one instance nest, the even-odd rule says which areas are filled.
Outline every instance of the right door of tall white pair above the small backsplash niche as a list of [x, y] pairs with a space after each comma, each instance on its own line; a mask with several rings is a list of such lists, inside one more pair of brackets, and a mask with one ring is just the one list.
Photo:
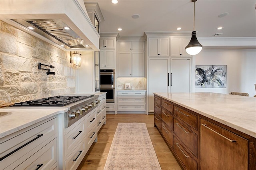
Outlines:
[[145, 55], [144, 52], [132, 53], [132, 76], [145, 76]]

